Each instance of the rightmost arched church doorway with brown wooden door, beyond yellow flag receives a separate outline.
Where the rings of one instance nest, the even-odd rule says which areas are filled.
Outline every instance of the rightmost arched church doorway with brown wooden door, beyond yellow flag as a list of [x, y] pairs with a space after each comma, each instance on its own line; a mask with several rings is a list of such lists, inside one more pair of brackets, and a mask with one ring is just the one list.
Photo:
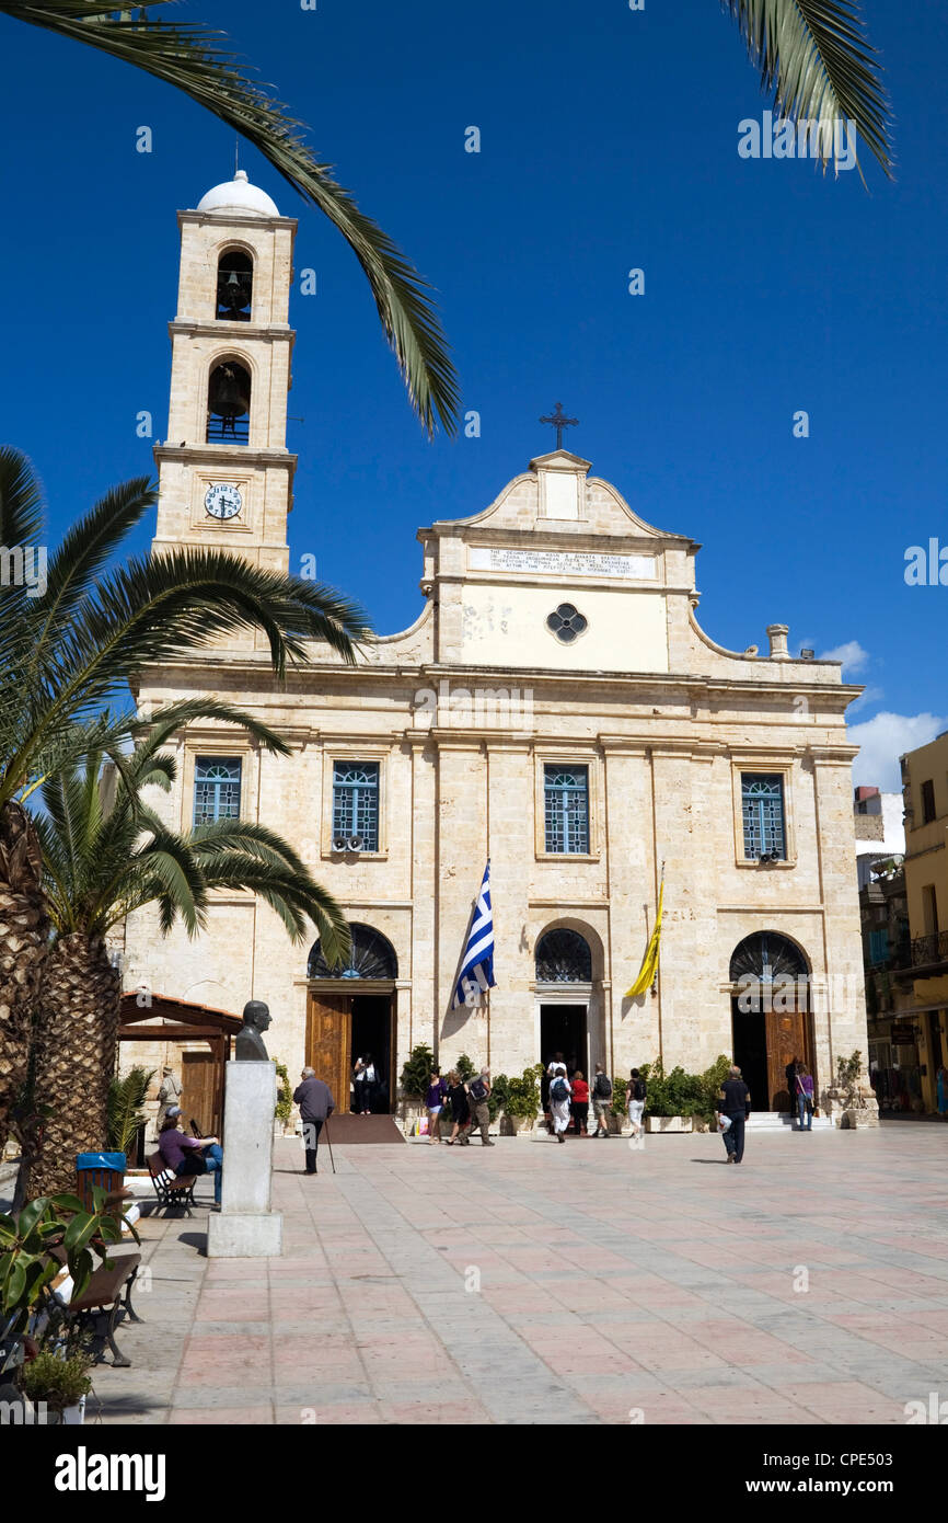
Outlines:
[[800, 949], [775, 931], [759, 931], [730, 958], [733, 1062], [755, 1110], [793, 1112], [787, 1069], [802, 1060], [814, 1077], [810, 969]]

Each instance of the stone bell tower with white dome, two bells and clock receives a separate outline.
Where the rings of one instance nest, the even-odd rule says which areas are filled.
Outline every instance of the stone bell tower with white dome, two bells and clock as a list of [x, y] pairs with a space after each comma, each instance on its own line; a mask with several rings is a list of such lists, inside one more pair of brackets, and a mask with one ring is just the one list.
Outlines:
[[297, 457], [286, 448], [297, 222], [239, 169], [178, 213], [181, 276], [152, 553], [221, 547], [286, 571]]

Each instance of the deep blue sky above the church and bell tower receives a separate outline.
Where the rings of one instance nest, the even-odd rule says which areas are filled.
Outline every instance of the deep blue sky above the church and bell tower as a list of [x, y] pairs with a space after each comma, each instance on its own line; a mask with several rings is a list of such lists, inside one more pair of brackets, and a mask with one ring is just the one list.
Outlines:
[[[315, 553], [380, 632], [405, 627], [415, 528], [487, 506], [551, 448], [537, 419], [561, 399], [593, 472], [705, 545], [714, 640], [765, 647], [784, 621], [794, 650], [846, 650], [869, 688], [857, 780], [898, 786], [899, 749], [948, 726], [948, 588], [904, 582], [908, 545], [948, 545], [948, 14], [867, 0], [898, 164], [889, 183], [867, 158], [866, 193], [855, 172], [738, 157], [738, 122], [768, 102], [717, 0], [175, 9], [227, 27], [438, 288], [481, 414], [479, 439], [425, 440], [348, 248], [243, 148], [300, 216], [297, 270], [318, 273], [291, 309], [292, 564]], [[3, 437], [33, 457], [61, 533], [154, 469], [135, 414], [164, 437], [175, 212], [230, 178], [234, 140], [88, 49], [5, 18], [0, 34]]]

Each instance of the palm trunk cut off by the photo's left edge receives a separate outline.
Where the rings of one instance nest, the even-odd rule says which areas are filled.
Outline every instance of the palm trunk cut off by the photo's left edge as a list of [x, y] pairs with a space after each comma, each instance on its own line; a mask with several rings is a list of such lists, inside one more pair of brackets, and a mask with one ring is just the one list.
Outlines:
[[43, 856], [21, 804], [0, 809], [0, 1156], [26, 1083], [49, 938]]

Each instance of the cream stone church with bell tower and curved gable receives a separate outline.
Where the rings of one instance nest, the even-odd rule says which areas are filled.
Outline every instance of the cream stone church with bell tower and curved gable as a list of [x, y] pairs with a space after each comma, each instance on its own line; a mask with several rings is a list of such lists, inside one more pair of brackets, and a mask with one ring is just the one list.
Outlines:
[[[154, 548], [286, 568], [295, 224], [245, 180], [180, 222]], [[845, 722], [860, 688], [838, 663], [794, 659], [785, 624], [764, 655], [715, 644], [695, 615], [700, 547], [589, 471], [555, 449], [484, 512], [418, 530], [425, 606], [355, 667], [318, 647], [280, 687], [248, 637], [143, 675], [143, 705], [215, 693], [292, 746], [280, 760], [189, 726], [157, 809], [282, 832], [345, 908], [353, 955], [330, 969], [263, 903], [218, 894], [195, 941], [163, 940], [154, 909], [129, 917], [129, 985], [228, 1011], [266, 999], [271, 1054], [342, 1097], [367, 1048], [394, 1095], [418, 1042], [508, 1074], [557, 1048], [586, 1072], [733, 1052], [758, 1109], [785, 1104], [791, 1057], [822, 1092], [837, 1055], [866, 1052]], [[452, 1010], [488, 857], [498, 984]], [[660, 976], [628, 999], [662, 864]], [[747, 988], [761, 998], [741, 1010]]]

